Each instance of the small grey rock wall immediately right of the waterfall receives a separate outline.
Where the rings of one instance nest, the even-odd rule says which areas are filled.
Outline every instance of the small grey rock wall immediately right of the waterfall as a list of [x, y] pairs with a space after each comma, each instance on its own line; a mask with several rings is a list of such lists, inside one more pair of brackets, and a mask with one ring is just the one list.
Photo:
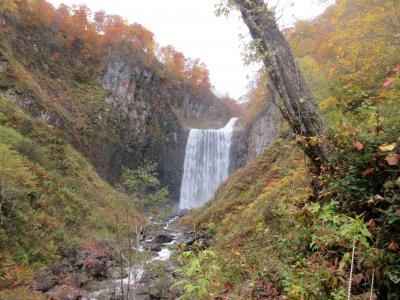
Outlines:
[[278, 108], [270, 103], [265, 111], [247, 128], [240, 121], [232, 136], [230, 173], [255, 159], [271, 146], [281, 124]]

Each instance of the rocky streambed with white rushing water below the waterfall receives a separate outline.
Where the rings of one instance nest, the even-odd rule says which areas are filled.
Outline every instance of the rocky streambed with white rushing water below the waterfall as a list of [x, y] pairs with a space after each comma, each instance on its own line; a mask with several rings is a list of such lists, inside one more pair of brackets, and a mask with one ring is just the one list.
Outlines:
[[208, 247], [211, 239], [206, 231], [172, 229], [170, 225], [177, 218], [148, 220], [140, 243], [133, 249], [135, 260], [130, 268], [121, 268], [110, 243], [97, 241], [90, 249], [62, 253], [61, 260], [36, 276], [35, 288], [49, 299], [173, 299], [179, 294], [171, 290], [177, 280], [177, 245], [188, 249], [196, 242]]

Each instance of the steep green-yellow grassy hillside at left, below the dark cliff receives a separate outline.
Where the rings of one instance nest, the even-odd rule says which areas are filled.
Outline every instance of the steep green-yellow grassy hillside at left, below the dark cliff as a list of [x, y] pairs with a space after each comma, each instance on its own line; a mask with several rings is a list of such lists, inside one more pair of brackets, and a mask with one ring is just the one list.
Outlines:
[[[63, 134], [0, 93], [0, 290], [115, 229], [115, 199]], [[141, 217], [138, 215], [138, 220]], [[22, 297], [22, 296], [21, 296]]]

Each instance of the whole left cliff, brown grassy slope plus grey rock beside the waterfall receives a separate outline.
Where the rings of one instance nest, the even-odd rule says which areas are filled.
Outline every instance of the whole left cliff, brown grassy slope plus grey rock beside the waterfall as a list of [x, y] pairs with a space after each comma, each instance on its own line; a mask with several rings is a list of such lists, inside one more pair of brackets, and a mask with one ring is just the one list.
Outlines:
[[159, 74], [159, 64], [115, 51], [100, 72], [83, 76], [78, 60], [52, 59], [54, 51], [64, 53], [57, 32], [4, 22], [0, 91], [7, 99], [59, 129], [111, 183], [122, 166], [158, 163], [161, 183], [178, 200], [188, 131], [173, 107], [186, 92]]

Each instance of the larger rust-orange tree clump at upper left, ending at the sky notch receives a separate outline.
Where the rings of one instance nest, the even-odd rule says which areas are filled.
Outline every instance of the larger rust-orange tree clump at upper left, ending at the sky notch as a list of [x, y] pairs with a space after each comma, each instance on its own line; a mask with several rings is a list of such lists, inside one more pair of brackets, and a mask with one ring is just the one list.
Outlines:
[[134, 51], [147, 65], [154, 61], [153, 34], [139, 24], [127, 23], [120, 16], [103, 11], [93, 14], [85, 5], [61, 4], [55, 9], [45, 0], [7, 0], [6, 4], [3, 13], [13, 14], [27, 28], [58, 33], [67, 50], [61, 53], [64, 58], [75, 62], [79, 59], [98, 67], [112, 51], [123, 47]]

